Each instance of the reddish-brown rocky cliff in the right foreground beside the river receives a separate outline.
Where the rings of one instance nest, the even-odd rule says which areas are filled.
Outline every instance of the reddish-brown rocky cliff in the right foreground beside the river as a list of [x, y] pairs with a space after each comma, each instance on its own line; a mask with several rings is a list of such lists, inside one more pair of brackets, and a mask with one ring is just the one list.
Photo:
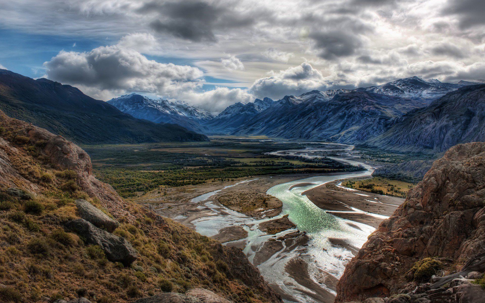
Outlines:
[[[410, 292], [439, 269], [445, 274], [459, 271], [474, 255], [484, 253], [484, 201], [485, 143], [453, 146], [347, 265], [336, 302]], [[432, 266], [423, 266], [428, 271], [418, 275], [416, 269], [422, 268], [416, 262], [423, 259]], [[432, 302], [468, 302], [453, 298]]]

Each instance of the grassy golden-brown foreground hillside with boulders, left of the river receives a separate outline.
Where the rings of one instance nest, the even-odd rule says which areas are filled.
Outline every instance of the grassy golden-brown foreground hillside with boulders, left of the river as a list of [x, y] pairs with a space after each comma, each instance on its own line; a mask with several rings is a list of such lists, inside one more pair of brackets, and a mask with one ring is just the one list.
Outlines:
[[0, 302], [281, 302], [240, 249], [124, 201], [79, 146], [1, 111], [0, 225]]

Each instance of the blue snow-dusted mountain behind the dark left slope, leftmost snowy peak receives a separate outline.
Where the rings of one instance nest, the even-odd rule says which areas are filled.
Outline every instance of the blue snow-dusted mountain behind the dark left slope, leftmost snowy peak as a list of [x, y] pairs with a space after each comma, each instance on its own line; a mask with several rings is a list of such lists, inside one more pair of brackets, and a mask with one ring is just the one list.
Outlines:
[[155, 123], [177, 124], [198, 132], [204, 130], [200, 123], [214, 117], [210, 112], [197, 109], [181, 101], [153, 100], [134, 93], [113, 98], [108, 100], [107, 103], [138, 119]]

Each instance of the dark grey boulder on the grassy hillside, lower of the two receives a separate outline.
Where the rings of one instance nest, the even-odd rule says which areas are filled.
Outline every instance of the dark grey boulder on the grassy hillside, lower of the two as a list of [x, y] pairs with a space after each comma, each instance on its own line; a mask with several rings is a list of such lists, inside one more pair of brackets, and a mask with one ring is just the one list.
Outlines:
[[97, 228], [84, 219], [68, 221], [65, 223], [65, 227], [86, 239], [87, 243], [99, 245], [108, 260], [112, 262], [121, 262], [127, 266], [137, 258], [136, 251], [125, 238]]

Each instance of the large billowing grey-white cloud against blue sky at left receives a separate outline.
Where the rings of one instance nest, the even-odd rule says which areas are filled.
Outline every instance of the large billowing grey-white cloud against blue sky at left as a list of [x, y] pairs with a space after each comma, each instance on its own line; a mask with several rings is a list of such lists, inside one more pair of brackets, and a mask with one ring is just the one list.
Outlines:
[[122, 45], [87, 52], [63, 50], [44, 67], [49, 79], [63, 83], [168, 96], [200, 86], [203, 76], [196, 67], [158, 63]]

